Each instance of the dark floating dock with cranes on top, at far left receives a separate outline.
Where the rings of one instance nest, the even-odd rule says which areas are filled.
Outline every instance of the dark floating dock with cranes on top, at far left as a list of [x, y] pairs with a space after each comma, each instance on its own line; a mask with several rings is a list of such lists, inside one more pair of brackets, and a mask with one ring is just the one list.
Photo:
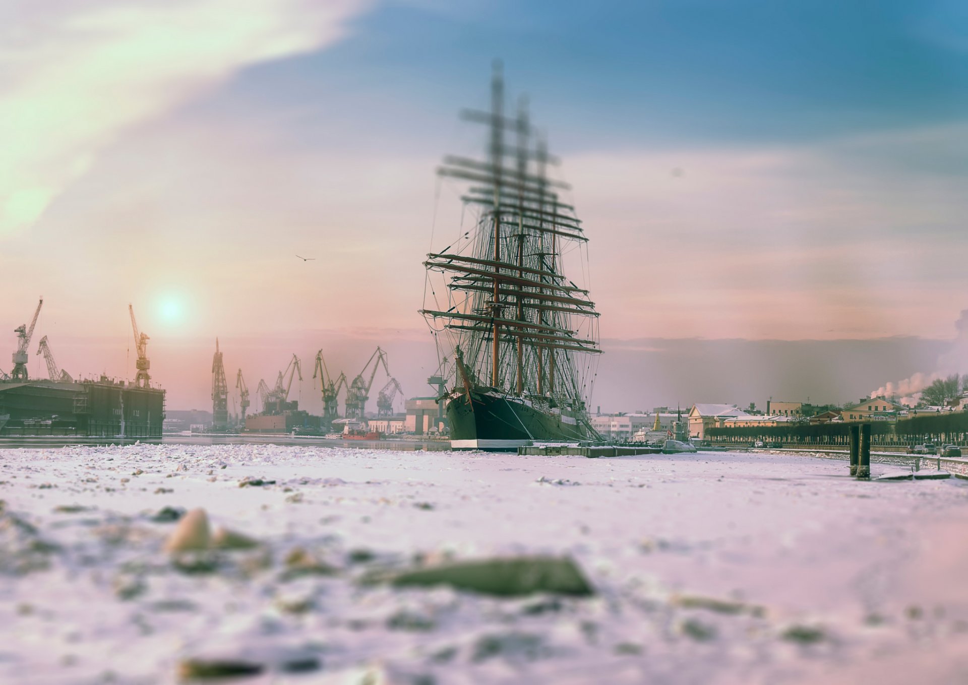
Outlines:
[[137, 352], [136, 376], [126, 382], [100, 376], [76, 381], [57, 365], [47, 336], [36, 355], [43, 355], [47, 378], [28, 373], [29, 345], [44, 305], [42, 297], [28, 327], [16, 327], [14, 368], [0, 370], [0, 438], [25, 436], [161, 438], [165, 390], [152, 387], [146, 345], [129, 306]]

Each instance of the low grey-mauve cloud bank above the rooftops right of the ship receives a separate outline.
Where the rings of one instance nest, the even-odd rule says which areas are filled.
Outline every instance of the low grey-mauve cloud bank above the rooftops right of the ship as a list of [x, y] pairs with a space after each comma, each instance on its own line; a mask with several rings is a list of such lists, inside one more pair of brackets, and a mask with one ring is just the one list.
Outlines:
[[[842, 403], [880, 379], [929, 367], [950, 341], [640, 338], [602, 340], [591, 406], [633, 411], [692, 402]], [[638, 349], [637, 349], [638, 348]], [[642, 348], [661, 352], [643, 353]]]

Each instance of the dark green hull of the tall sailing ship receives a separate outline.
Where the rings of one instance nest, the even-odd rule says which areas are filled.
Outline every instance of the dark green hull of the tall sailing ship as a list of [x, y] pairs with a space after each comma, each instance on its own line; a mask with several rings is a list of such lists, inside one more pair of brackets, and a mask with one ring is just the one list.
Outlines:
[[493, 392], [451, 395], [445, 411], [454, 450], [517, 451], [541, 442], [588, 440], [584, 425], [560, 414], [542, 411], [528, 402]]

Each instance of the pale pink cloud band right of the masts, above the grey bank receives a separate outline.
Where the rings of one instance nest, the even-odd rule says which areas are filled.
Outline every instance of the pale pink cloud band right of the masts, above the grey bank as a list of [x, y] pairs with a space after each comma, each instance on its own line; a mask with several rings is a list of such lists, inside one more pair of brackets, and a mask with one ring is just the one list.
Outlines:
[[961, 123], [565, 154], [603, 333], [946, 335], [965, 246], [965, 140]]

